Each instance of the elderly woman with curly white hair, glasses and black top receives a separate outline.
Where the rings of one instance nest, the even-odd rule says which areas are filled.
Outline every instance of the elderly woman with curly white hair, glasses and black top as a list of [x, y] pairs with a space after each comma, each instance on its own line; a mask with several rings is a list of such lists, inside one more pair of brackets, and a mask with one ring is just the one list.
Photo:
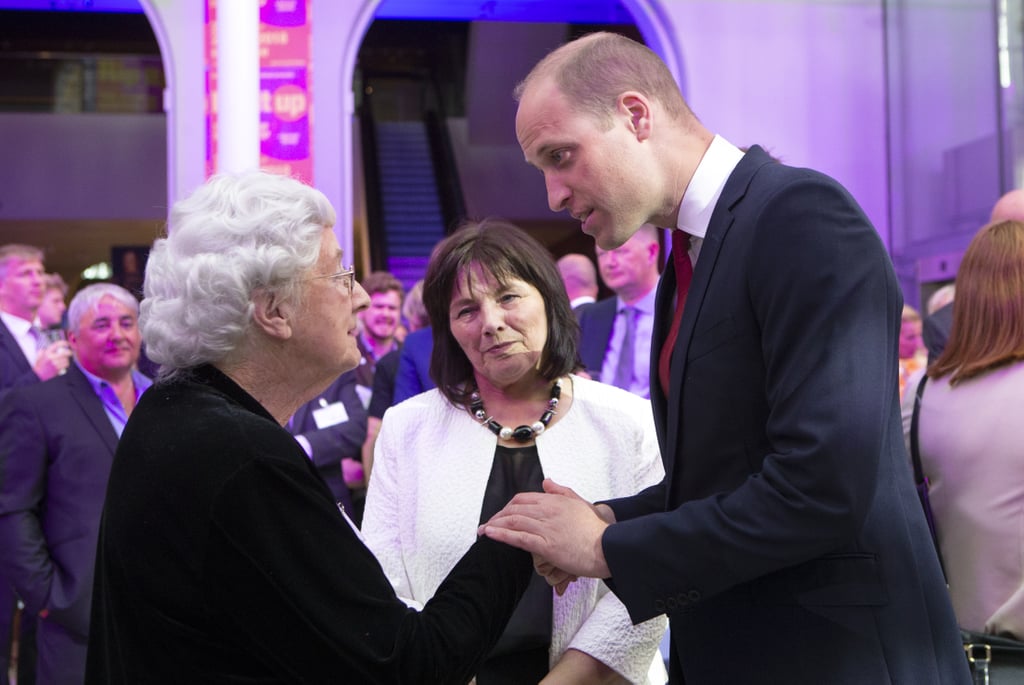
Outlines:
[[118, 447], [89, 683], [466, 682], [531, 574], [481, 539], [422, 611], [283, 428], [359, 359], [327, 199], [263, 173], [173, 208], [145, 273], [161, 376]]

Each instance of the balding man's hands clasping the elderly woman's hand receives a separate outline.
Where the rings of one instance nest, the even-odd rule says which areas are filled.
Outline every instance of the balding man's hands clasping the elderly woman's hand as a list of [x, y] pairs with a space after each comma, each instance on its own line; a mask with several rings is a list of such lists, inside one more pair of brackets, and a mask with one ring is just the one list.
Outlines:
[[478, 532], [532, 554], [537, 572], [561, 595], [578, 577], [611, 575], [601, 536], [614, 522], [610, 507], [545, 478], [544, 493], [516, 495]]

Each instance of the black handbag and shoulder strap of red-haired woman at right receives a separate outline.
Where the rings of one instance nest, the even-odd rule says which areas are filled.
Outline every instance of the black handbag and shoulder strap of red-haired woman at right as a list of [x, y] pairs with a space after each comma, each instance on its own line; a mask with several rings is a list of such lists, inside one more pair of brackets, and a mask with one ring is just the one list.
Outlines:
[[[918, 498], [925, 510], [928, 529], [932, 533], [935, 553], [942, 564], [939, 538], [932, 516], [932, 503], [928, 499], [928, 477], [921, 468], [921, 453], [918, 447], [918, 416], [921, 413], [921, 396], [925, 392], [928, 376], [923, 376], [913, 397], [913, 414], [910, 417], [910, 459], [913, 462], [913, 482], [918, 487]], [[945, 567], [942, 569], [945, 574]], [[1024, 642], [996, 635], [985, 635], [961, 629], [964, 652], [971, 667], [975, 685], [1021, 685], [1024, 683]]]

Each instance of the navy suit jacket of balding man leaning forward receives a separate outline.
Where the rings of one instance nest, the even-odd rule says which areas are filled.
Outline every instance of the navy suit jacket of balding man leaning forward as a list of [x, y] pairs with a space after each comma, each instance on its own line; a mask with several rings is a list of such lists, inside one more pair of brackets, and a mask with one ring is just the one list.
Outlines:
[[902, 298], [836, 181], [753, 147], [696, 262], [670, 392], [651, 401], [666, 476], [609, 502], [611, 585], [668, 613], [673, 682], [968, 683], [914, 491], [896, 396]]

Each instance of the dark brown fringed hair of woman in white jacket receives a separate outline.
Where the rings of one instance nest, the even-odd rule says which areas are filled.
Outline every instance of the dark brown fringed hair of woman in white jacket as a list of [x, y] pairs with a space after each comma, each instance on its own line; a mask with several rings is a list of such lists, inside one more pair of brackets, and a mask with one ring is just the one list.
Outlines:
[[528, 283], [544, 299], [548, 341], [541, 356], [541, 375], [554, 381], [575, 368], [580, 325], [569, 306], [561, 275], [547, 248], [506, 221], [485, 219], [463, 225], [441, 241], [424, 277], [423, 303], [433, 328], [430, 376], [454, 404], [465, 404], [473, 390], [473, 366], [452, 335], [452, 295], [474, 266], [488, 271], [499, 284], [513, 279]]

